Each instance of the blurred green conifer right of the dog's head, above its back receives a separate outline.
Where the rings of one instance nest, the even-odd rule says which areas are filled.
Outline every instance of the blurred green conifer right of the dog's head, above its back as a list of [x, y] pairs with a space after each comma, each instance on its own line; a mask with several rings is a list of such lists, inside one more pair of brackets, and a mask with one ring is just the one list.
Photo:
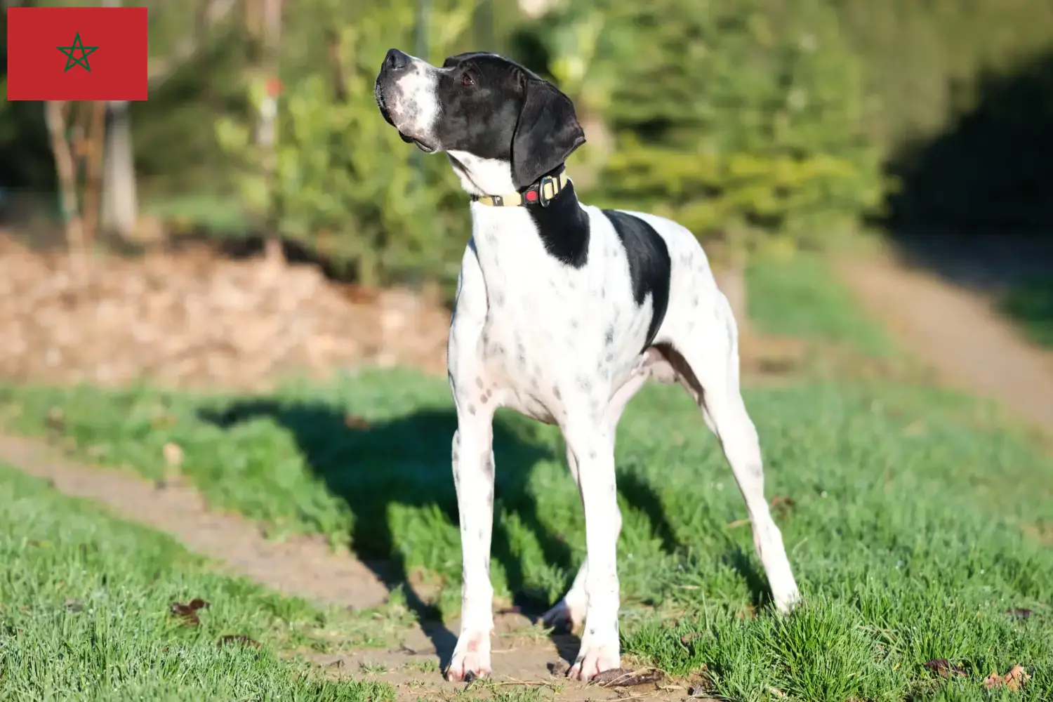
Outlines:
[[614, 136], [590, 195], [754, 240], [830, 236], [879, 203], [861, 65], [821, 0], [592, 0], [551, 23], [550, 66]]

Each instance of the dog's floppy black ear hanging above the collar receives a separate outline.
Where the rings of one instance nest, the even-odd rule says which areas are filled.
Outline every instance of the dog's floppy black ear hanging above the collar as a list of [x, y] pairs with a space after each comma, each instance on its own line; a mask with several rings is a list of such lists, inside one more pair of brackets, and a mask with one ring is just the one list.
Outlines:
[[526, 187], [585, 143], [574, 103], [555, 85], [526, 79], [525, 98], [512, 137], [512, 180]]

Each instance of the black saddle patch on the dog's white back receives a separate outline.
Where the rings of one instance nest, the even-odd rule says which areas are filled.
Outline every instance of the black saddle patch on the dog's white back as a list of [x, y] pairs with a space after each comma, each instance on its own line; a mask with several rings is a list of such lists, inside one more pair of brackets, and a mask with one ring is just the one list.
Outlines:
[[653, 314], [648, 340], [643, 344], [647, 348], [658, 334], [669, 308], [669, 283], [673, 270], [669, 246], [655, 228], [639, 217], [617, 209], [604, 209], [603, 214], [611, 220], [621, 245], [625, 247], [633, 300], [638, 306], [642, 305], [648, 293], [651, 294]]

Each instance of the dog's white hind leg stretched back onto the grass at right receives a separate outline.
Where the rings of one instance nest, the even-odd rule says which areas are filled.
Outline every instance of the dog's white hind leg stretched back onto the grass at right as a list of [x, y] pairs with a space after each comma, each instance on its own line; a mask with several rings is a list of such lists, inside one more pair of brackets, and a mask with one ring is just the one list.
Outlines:
[[663, 352], [720, 441], [746, 500], [753, 544], [768, 576], [772, 599], [780, 611], [789, 611], [800, 596], [782, 534], [764, 499], [760, 442], [739, 389], [738, 333], [727, 299], [720, 295], [716, 314], [707, 323], [684, 328], [690, 330], [679, 338], [678, 329], [671, 329], [673, 344], [665, 345]]

